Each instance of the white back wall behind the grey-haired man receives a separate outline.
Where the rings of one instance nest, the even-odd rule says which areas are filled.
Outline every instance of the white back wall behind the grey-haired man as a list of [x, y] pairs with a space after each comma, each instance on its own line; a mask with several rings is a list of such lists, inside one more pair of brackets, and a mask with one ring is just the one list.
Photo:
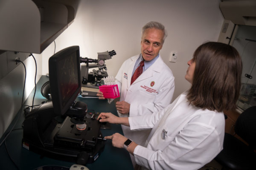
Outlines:
[[[97, 58], [97, 52], [115, 50], [106, 61], [108, 74], [115, 76], [122, 62], [140, 54], [141, 28], [149, 21], [163, 23], [168, 37], [160, 51], [175, 76], [174, 99], [189, 88], [184, 76], [186, 62], [205, 41], [217, 41], [224, 18], [220, 0], [81, 0], [75, 21], [56, 40], [56, 52], [80, 46], [81, 57]], [[48, 73], [48, 59], [54, 43], [42, 53], [42, 74]], [[177, 51], [176, 63], [169, 62]]]

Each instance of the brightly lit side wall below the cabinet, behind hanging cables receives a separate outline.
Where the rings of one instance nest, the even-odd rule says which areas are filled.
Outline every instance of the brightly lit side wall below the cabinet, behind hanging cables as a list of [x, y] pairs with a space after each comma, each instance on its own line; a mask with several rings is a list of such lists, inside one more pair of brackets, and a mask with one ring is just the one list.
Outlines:
[[[14, 52], [12, 51], [12, 53]], [[40, 55], [33, 55], [37, 61], [36, 80], [38, 81], [42, 75], [42, 61]], [[26, 66], [26, 85], [23, 98], [23, 102], [25, 102], [29, 94], [35, 88], [35, 61], [32, 57], [28, 57], [23, 61], [23, 63]], [[17, 67], [0, 79], [0, 137], [9, 127], [10, 123], [20, 110], [23, 96], [24, 78], [25, 70], [23, 65], [20, 63], [20, 65], [17, 65]], [[37, 89], [37, 91], [40, 91], [40, 89]], [[29, 103], [29, 105], [32, 105], [32, 102]]]

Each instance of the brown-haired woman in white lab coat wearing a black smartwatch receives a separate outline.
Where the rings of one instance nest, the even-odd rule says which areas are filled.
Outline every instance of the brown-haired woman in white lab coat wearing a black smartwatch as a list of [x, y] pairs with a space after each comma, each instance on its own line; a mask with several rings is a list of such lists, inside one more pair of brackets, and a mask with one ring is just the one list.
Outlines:
[[[115, 133], [105, 136], [115, 147], [134, 154], [142, 169], [198, 170], [222, 150], [224, 110], [236, 108], [241, 81], [241, 57], [230, 45], [200, 45], [186, 71], [191, 88], [168, 107], [151, 115], [117, 117], [101, 113], [100, 122], [152, 128], [144, 146]], [[98, 119], [99, 119], [98, 118]]]

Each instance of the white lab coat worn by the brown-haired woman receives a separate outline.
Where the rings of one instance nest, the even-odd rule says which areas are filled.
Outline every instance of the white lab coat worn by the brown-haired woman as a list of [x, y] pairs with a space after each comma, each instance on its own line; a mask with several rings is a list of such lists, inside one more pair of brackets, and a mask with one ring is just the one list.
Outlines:
[[[198, 170], [223, 148], [224, 114], [189, 105], [186, 92], [160, 112], [129, 117], [131, 130], [152, 128], [137, 164], [153, 170]], [[167, 131], [163, 139], [163, 130]]]

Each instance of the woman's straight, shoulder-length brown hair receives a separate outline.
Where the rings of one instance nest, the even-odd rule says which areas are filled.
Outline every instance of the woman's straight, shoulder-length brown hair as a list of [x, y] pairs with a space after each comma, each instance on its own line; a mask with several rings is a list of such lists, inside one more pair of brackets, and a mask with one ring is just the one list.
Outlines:
[[207, 42], [194, 52], [195, 72], [187, 99], [196, 107], [211, 111], [236, 108], [241, 86], [242, 62], [230, 45]]

